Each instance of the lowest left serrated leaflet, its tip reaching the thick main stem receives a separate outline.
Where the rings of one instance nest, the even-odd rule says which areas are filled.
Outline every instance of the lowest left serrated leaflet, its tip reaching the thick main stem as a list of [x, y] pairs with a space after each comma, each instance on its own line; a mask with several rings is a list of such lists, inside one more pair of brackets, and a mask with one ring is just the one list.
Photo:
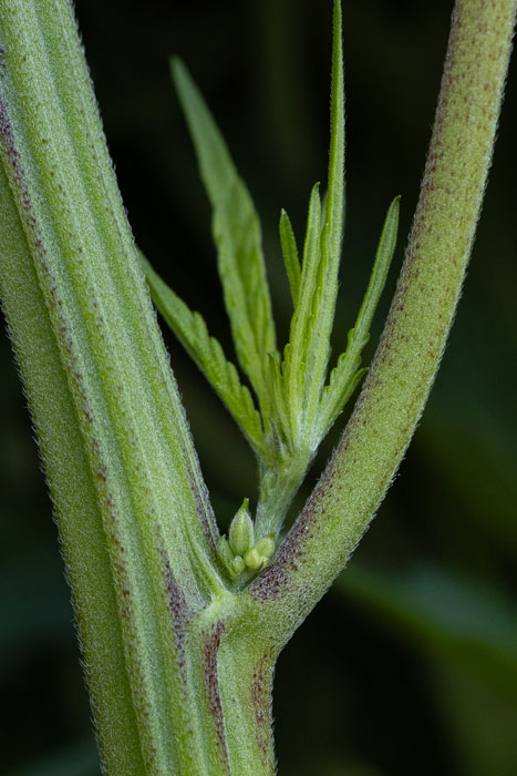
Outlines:
[[259, 457], [267, 458], [269, 452], [260, 415], [248, 388], [240, 382], [236, 367], [226, 359], [217, 339], [209, 336], [199, 313], [188, 308], [142, 254], [139, 258], [156, 307], [234, 416], [254, 450]]

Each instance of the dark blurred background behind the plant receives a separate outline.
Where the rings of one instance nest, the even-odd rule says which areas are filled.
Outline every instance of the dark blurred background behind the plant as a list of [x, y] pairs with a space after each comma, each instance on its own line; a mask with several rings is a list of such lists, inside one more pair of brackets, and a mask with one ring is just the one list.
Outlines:
[[[385, 208], [402, 194], [373, 353], [417, 196], [452, 4], [344, 1], [349, 202], [337, 351]], [[141, 247], [230, 353], [209, 208], [169, 83], [167, 55], [178, 53], [261, 213], [281, 338], [290, 300], [279, 211], [289, 210], [301, 241], [310, 187], [325, 181], [330, 0], [77, 0], [76, 10]], [[517, 774], [515, 70], [464, 298], [425, 417], [347, 573], [279, 661], [282, 776]], [[224, 525], [254, 493], [254, 460], [165, 337]], [[56, 530], [6, 337], [0, 358], [0, 770], [94, 776]]]

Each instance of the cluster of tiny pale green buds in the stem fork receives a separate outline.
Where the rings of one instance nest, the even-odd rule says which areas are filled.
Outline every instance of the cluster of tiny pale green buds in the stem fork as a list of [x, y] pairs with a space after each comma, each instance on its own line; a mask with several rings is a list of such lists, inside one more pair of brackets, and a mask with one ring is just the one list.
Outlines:
[[220, 537], [217, 542], [217, 555], [231, 579], [240, 576], [245, 571], [257, 572], [269, 563], [275, 551], [272, 535], [255, 542], [255, 528], [248, 511], [248, 499], [231, 521], [228, 538]]

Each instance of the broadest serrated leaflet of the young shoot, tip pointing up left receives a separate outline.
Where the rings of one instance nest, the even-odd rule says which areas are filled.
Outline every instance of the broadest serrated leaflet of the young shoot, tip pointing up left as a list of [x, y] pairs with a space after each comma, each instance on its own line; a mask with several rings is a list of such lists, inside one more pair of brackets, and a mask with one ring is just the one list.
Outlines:
[[214, 208], [218, 269], [237, 357], [266, 415], [270, 404], [267, 354], [276, 349], [276, 335], [259, 218], [187, 69], [173, 60], [172, 73]]

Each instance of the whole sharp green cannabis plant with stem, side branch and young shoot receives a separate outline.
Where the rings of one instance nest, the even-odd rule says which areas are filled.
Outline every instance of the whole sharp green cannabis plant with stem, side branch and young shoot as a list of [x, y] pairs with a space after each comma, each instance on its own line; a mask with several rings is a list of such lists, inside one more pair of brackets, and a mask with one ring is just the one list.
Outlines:
[[[106, 773], [275, 772], [279, 652], [372, 519], [437, 369], [471, 252], [515, 0], [458, 1], [405, 262], [373, 364], [361, 354], [395, 249], [387, 210], [347, 349], [332, 357], [344, 224], [341, 7], [330, 153], [303, 239], [279, 239], [277, 343], [260, 223], [186, 67], [173, 80], [213, 207], [238, 367], [134, 244], [68, 0], [0, 0], [0, 290], [60, 527]], [[174, 273], [167, 278], [174, 285]], [[259, 492], [221, 534], [153, 299], [249, 442]], [[292, 528], [318, 447], [364, 379]]]

